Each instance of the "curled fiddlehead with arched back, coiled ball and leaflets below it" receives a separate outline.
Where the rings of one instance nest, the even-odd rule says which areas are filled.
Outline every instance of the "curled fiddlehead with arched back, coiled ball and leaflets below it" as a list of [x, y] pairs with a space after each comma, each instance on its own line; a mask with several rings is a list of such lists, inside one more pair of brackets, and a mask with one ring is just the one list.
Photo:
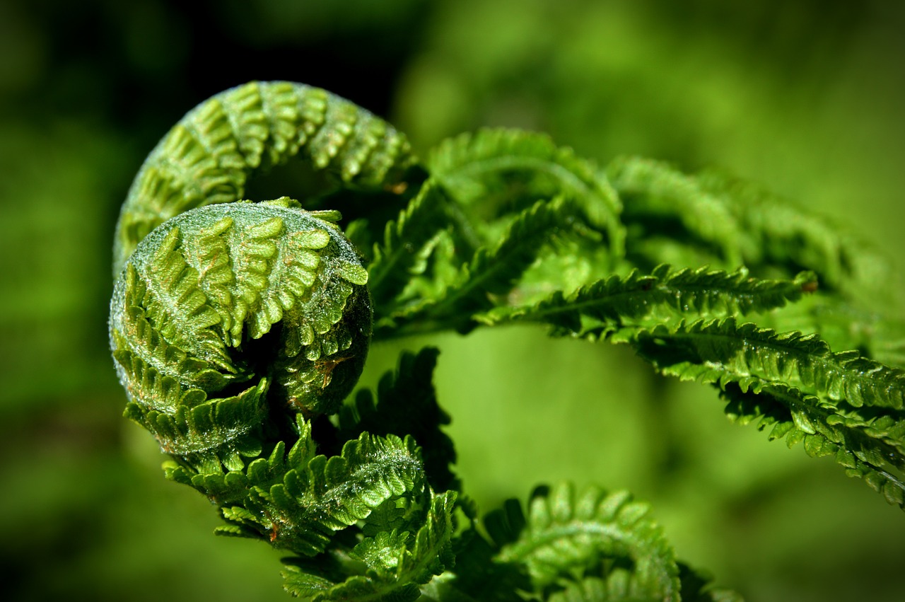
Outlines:
[[[291, 593], [405, 596], [443, 571], [455, 493], [433, 493], [411, 436], [316, 436], [357, 382], [372, 310], [338, 212], [240, 200], [248, 177], [294, 155], [353, 190], [393, 188], [414, 163], [385, 121], [289, 82], [207, 100], [148, 156], [110, 303], [126, 415], [174, 459], [168, 478], [220, 506], [220, 533], [300, 556]], [[405, 570], [383, 566], [387, 542], [414, 547]], [[357, 563], [328, 569], [337, 553]]]

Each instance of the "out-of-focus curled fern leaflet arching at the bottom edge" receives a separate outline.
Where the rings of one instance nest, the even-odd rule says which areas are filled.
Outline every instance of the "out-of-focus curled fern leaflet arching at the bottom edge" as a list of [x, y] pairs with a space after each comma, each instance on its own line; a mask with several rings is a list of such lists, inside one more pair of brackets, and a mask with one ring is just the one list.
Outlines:
[[527, 521], [517, 509], [508, 507], [510, 532], [496, 559], [525, 565], [537, 594], [557, 591], [564, 578], [588, 575], [624, 597], [680, 599], [672, 547], [647, 516], [647, 505], [628, 493], [589, 488], [576, 497], [571, 484], [561, 484], [531, 500]]

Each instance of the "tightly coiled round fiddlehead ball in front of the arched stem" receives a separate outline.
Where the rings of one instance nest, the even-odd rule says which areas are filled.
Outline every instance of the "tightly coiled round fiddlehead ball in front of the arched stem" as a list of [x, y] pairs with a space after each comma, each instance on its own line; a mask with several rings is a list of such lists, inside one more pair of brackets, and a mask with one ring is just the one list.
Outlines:
[[288, 203], [179, 215], [138, 246], [114, 291], [120, 379], [133, 401], [167, 411], [168, 379], [214, 399], [260, 372], [274, 403], [332, 411], [367, 354], [365, 282], [338, 229]]

